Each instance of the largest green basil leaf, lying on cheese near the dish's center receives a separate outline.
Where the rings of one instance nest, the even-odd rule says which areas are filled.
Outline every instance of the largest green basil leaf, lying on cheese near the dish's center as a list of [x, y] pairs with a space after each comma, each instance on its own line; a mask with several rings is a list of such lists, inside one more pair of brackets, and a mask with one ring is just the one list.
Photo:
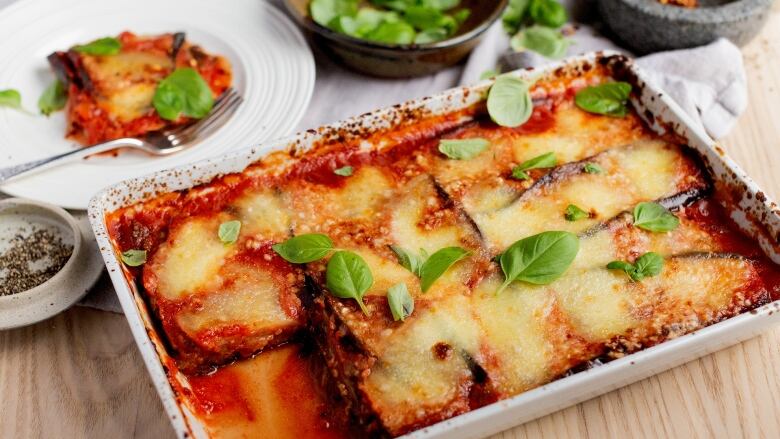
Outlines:
[[499, 259], [505, 280], [496, 294], [517, 280], [546, 285], [558, 279], [574, 261], [579, 247], [577, 235], [557, 231], [515, 242]]

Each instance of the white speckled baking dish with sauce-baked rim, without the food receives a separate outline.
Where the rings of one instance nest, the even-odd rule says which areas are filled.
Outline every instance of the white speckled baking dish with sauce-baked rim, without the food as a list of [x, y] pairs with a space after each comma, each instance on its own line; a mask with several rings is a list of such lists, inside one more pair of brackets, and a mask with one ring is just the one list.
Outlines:
[[[519, 77], [534, 78], [554, 72], [558, 68], [574, 68], [594, 63], [606, 56], [616, 61], [621, 76], [631, 78], [641, 95], [633, 101], [638, 112], [659, 132], [672, 130], [688, 145], [697, 150], [718, 185], [726, 185], [730, 193], [741, 194], [735, 200], [733, 218], [749, 235], [761, 244], [767, 255], [780, 263], [780, 211], [777, 205], [745, 175], [745, 173], [715, 143], [692, 123], [671, 99], [643, 79], [642, 72], [630, 61], [616, 54], [590, 54], [572, 58], [540, 70], [518, 71]], [[490, 81], [474, 86], [456, 88], [442, 94], [399, 106], [362, 115], [329, 127], [311, 130], [290, 138], [269, 142], [241, 152], [196, 163], [171, 171], [129, 180], [112, 186], [96, 195], [89, 206], [90, 220], [103, 253], [106, 266], [117, 290], [130, 328], [149, 369], [163, 405], [180, 437], [208, 437], [204, 424], [174, 388], [188, 387], [186, 378], [179, 374], [169, 382], [165, 364], [170, 358], [152, 324], [152, 316], [134, 284], [127, 281], [123, 266], [117, 260], [105, 225], [105, 214], [159, 193], [188, 189], [212, 178], [240, 172], [271, 151], [293, 148], [299, 153], [313, 147], [316, 141], [329, 136], [365, 135], [366, 132], [402, 124], [410, 114], [442, 114], [468, 107], [480, 99]], [[373, 148], [376, 145], [365, 145]], [[559, 379], [514, 398], [449, 419], [408, 435], [414, 438], [472, 438], [481, 437], [521, 424], [547, 413], [576, 404], [615, 388], [659, 373], [725, 346], [735, 344], [763, 331], [780, 321], [780, 301], [772, 302], [754, 311], [741, 314], [702, 330], [655, 347], [628, 355], [583, 372]]]

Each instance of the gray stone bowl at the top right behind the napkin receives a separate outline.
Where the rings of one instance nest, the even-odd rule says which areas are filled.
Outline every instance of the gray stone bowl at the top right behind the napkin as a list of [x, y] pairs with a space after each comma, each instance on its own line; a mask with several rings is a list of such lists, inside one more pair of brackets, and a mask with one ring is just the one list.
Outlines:
[[597, 0], [615, 37], [638, 54], [684, 49], [720, 37], [742, 46], [766, 24], [773, 0], [699, 0], [696, 8], [656, 0]]

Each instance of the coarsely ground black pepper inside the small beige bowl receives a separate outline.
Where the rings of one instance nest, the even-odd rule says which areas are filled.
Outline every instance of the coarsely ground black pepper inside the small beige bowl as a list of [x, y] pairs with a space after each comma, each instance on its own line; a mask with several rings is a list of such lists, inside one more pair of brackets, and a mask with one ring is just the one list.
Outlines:
[[73, 246], [64, 244], [50, 230], [16, 235], [8, 250], [0, 254], [0, 296], [21, 293], [46, 282], [62, 269], [72, 253]]

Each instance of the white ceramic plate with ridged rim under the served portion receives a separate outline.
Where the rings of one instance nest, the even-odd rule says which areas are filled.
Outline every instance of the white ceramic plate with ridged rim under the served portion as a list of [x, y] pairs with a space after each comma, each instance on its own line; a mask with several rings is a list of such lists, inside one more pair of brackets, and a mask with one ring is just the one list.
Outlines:
[[[37, 113], [54, 78], [47, 55], [123, 30], [184, 31], [190, 42], [226, 56], [244, 103], [217, 132], [171, 157], [123, 152], [21, 177], [0, 190], [85, 209], [94, 193], [116, 182], [288, 135], [309, 104], [311, 51], [295, 25], [261, 0], [21, 0], [0, 10], [0, 89], [19, 90], [25, 108]], [[62, 112], [46, 118], [0, 109], [0, 166], [74, 148], [64, 134]]]

